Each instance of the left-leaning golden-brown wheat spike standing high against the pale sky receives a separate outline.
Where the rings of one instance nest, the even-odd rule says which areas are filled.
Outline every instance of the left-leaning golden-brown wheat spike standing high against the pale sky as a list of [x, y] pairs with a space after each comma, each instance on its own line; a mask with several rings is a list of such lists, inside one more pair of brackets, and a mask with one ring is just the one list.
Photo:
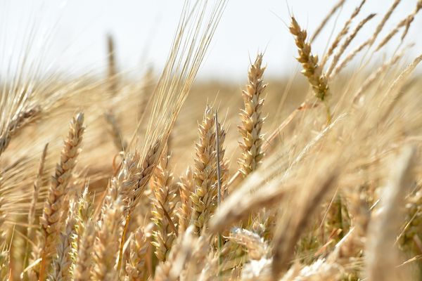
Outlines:
[[295, 37], [295, 44], [298, 46], [299, 57], [297, 59], [299, 63], [302, 63], [302, 74], [307, 77], [316, 98], [321, 101], [326, 100], [329, 94], [328, 81], [318, 65], [318, 56], [312, 55], [311, 45], [305, 41], [307, 37], [306, 30], [301, 30], [298, 22], [293, 17], [289, 30]]

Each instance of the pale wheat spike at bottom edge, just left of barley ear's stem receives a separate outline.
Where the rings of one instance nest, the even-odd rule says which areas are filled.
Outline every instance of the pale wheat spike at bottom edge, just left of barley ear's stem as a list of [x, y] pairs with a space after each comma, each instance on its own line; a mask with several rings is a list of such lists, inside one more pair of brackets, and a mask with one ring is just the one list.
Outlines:
[[94, 242], [94, 266], [91, 270], [93, 281], [115, 281], [119, 276], [115, 266], [122, 234], [123, 205], [120, 197], [107, 197]]

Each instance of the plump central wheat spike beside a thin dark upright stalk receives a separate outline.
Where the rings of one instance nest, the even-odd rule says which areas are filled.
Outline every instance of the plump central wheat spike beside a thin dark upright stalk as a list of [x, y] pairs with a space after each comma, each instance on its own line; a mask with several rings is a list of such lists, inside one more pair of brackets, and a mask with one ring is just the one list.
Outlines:
[[[195, 192], [191, 194], [192, 219], [196, 226], [196, 233], [200, 233], [203, 226], [210, 219], [217, 207], [217, 159], [215, 142], [215, 118], [212, 107], [205, 109], [204, 119], [199, 125], [199, 140], [196, 143], [195, 172], [193, 181]], [[225, 131], [220, 129], [219, 143], [222, 147]], [[224, 151], [220, 152], [223, 159]]]

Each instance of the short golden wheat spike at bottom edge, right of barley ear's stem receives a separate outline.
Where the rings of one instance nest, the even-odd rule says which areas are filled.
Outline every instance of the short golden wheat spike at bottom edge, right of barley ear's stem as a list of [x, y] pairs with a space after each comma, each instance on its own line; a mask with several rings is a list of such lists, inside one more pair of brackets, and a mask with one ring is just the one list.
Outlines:
[[143, 280], [146, 275], [145, 259], [147, 247], [146, 236], [142, 228], [139, 227], [130, 240], [130, 255], [125, 267], [129, 281]]

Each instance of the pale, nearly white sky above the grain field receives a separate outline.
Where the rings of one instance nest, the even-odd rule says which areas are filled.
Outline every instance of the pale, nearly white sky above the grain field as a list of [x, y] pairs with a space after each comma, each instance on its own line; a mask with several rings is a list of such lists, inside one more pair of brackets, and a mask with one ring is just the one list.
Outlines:
[[[309, 32], [337, 0], [229, 0], [222, 21], [215, 34], [207, 58], [200, 70], [200, 78], [243, 79], [249, 57], [265, 51], [267, 74], [280, 77], [297, 70], [293, 38], [284, 22], [293, 12]], [[357, 38], [369, 37], [374, 25], [383, 17], [393, 0], [368, 0], [359, 20], [369, 13], [378, 13], [371, 24]], [[0, 22], [2, 50], [1, 65], [18, 53], [23, 40], [19, 34], [30, 34], [32, 52], [38, 60], [44, 58], [43, 69], [60, 68], [70, 73], [81, 70], [103, 70], [106, 57], [106, 34], [113, 34], [117, 44], [120, 70], [133, 70], [153, 63], [160, 70], [170, 48], [179, 20], [183, 0], [71, 0], [71, 1], [2, 1]], [[360, 0], [347, 0], [338, 16], [337, 30], [350, 16]], [[403, 0], [387, 24], [390, 30], [410, 13], [416, 0]], [[284, 22], [283, 22], [284, 21]], [[331, 34], [334, 20], [328, 23], [313, 48], [322, 53]], [[409, 53], [422, 53], [422, 13], [416, 17], [408, 41], [416, 46]], [[50, 33], [49, 33], [50, 32]], [[52, 34], [46, 37], [43, 34]], [[398, 37], [397, 37], [398, 38]], [[49, 40], [46, 40], [49, 39]], [[411, 40], [409, 40], [411, 39]], [[397, 43], [397, 39], [395, 40]], [[353, 44], [350, 50], [353, 48]], [[394, 51], [390, 44], [385, 53]], [[43, 53], [43, 55], [37, 55]], [[380, 57], [381, 58], [381, 57]]]

